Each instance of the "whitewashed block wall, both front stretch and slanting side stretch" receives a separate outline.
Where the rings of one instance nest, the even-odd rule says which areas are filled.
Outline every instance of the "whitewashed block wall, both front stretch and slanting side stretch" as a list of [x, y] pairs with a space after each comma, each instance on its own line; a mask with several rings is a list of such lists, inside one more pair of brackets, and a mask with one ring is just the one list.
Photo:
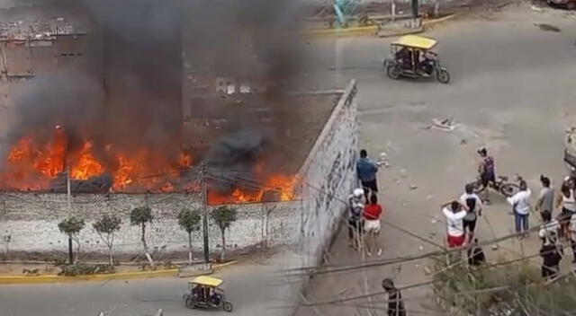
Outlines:
[[[316, 92], [317, 93], [317, 92]], [[333, 93], [333, 92], [329, 92]], [[346, 209], [344, 201], [356, 182], [356, 81], [349, 83], [320, 136], [303, 163], [300, 199], [292, 202], [234, 205], [238, 221], [227, 231], [227, 244], [234, 248], [263, 241], [268, 245], [291, 245], [290, 267], [319, 263]], [[139, 227], [130, 225], [130, 210], [152, 208], [154, 220], [148, 225], [150, 248], [186, 250], [187, 234], [176, 216], [184, 208], [200, 208], [198, 196], [186, 194], [81, 194], [72, 198], [67, 209], [66, 194], [0, 193], [0, 250], [10, 236], [10, 250], [67, 250], [67, 237], [58, 223], [69, 214], [85, 219], [79, 234], [83, 251], [105, 252], [93, 224], [105, 214], [121, 217], [114, 250], [117, 253], [141, 251]], [[220, 230], [209, 226], [211, 250], [220, 246]], [[202, 249], [202, 232], [193, 233], [193, 247]]]

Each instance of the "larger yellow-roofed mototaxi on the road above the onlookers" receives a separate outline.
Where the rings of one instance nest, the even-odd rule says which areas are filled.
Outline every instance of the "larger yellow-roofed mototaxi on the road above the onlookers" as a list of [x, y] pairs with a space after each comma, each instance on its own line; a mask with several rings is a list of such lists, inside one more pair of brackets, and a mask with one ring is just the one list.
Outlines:
[[440, 65], [437, 53], [432, 48], [437, 40], [417, 35], [406, 35], [391, 44], [392, 55], [383, 62], [386, 75], [392, 79], [401, 76], [413, 78], [433, 78], [440, 83], [449, 83], [450, 74]]

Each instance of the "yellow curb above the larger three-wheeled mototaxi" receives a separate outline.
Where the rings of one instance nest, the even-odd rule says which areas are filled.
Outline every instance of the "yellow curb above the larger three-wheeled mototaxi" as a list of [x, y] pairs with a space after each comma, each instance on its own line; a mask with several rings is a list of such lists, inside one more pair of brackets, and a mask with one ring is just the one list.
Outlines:
[[[410, 31], [396, 31], [385, 33], [385, 35], [379, 35], [380, 28], [377, 25], [371, 26], [362, 26], [356, 28], [347, 28], [347, 29], [329, 29], [329, 30], [312, 30], [312, 31], [303, 31], [299, 32], [299, 35], [302, 35], [308, 39], [330, 39], [330, 38], [343, 38], [343, 37], [360, 37], [360, 36], [370, 36], [370, 35], [378, 35], [381, 38], [385, 37], [394, 37], [394, 36], [401, 36], [407, 34], [415, 34], [422, 31], [426, 31], [424, 27], [428, 27], [437, 23], [446, 22], [448, 20], [452, 20], [455, 18], [455, 14], [446, 15], [444, 17], [432, 20], [423, 20], [422, 21], [422, 28], [418, 30], [410, 30]], [[384, 31], [385, 32], [385, 31]]]

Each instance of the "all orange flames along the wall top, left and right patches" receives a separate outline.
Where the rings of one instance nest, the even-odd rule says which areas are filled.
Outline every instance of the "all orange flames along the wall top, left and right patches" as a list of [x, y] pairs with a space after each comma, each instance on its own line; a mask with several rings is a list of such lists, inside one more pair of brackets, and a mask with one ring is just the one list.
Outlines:
[[[0, 171], [0, 189], [49, 189], [50, 181], [59, 175], [65, 175], [67, 168], [72, 180], [89, 180], [110, 174], [111, 190], [114, 192], [174, 192], [199, 189], [197, 183], [175, 188], [175, 180], [181, 171], [193, 166], [191, 154], [181, 153], [175, 159], [176, 162], [165, 162], [166, 157], [154, 156], [157, 153], [151, 150], [142, 149], [128, 154], [116, 150], [113, 145], [106, 145], [104, 153], [96, 155], [93, 142], [87, 139], [79, 150], [70, 152], [67, 136], [60, 128], [44, 143], [41, 144], [32, 136], [24, 136], [13, 146], [4, 163], [4, 170]], [[97, 158], [101, 155], [106, 156], [108, 164]], [[279, 174], [264, 176], [265, 167], [265, 161], [259, 161], [254, 166], [257, 178], [265, 179], [263, 184], [257, 185], [257, 189], [254, 189], [254, 185], [250, 186], [252, 189], [238, 185], [226, 194], [210, 190], [208, 202], [211, 205], [257, 203], [264, 200], [265, 192], [272, 192], [276, 199], [282, 201], [293, 200], [296, 179]]]

